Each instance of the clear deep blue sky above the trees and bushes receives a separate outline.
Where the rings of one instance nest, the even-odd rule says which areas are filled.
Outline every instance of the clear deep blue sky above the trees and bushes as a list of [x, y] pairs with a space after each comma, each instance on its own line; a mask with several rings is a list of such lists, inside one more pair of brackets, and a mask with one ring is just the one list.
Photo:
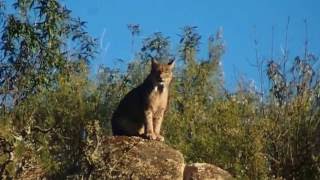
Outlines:
[[274, 57], [281, 55], [285, 44], [285, 26], [290, 16], [288, 47], [291, 57], [303, 54], [308, 21], [309, 49], [320, 54], [320, 0], [64, 0], [67, 7], [87, 21], [88, 31], [101, 39], [101, 53], [93, 62], [113, 66], [115, 59], [130, 59], [131, 37], [127, 24], [140, 24], [141, 38], [163, 32], [178, 41], [177, 34], [185, 25], [198, 26], [206, 57], [209, 35], [223, 28], [226, 54], [223, 58], [226, 86], [233, 89], [239, 74], [256, 80], [254, 39], [258, 40], [262, 58], [271, 55], [274, 27]]

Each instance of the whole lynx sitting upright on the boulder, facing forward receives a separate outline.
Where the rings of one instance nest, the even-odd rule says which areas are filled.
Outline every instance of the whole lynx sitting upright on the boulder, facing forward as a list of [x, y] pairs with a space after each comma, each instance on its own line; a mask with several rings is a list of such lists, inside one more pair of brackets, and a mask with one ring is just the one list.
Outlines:
[[131, 90], [112, 116], [112, 132], [116, 136], [143, 136], [164, 141], [160, 135], [163, 115], [168, 104], [169, 85], [174, 60], [168, 64], [151, 62], [151, 72], [142, 84]]

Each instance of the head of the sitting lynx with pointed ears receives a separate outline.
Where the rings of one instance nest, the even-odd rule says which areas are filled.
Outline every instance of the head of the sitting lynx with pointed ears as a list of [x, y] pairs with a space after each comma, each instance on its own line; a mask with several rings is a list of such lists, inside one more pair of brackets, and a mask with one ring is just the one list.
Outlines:
[[174, 68], [174, 59], [169, 63], [160, 64], [152, 59], [150, 77], [154, 84], [168, 86], [172, 80], [172, 71]]

